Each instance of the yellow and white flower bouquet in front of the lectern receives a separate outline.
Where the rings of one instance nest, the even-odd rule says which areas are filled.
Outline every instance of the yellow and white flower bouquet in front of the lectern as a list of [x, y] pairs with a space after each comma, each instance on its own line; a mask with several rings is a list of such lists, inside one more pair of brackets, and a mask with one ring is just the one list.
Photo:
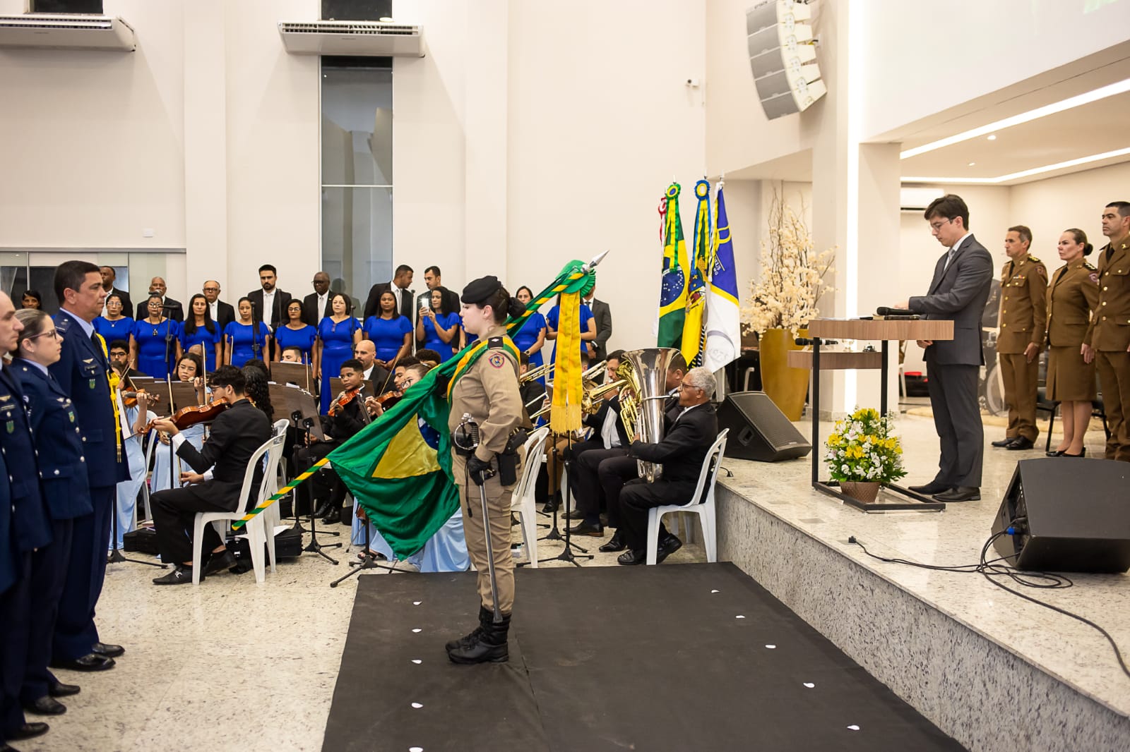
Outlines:
[[894, 420], [893, 413], [880, 416], [873, 408], [857, 408], [837, 420], [824, 455], [832, 479], [889, 483], [904, 476], [903, 447], [892, 431]]

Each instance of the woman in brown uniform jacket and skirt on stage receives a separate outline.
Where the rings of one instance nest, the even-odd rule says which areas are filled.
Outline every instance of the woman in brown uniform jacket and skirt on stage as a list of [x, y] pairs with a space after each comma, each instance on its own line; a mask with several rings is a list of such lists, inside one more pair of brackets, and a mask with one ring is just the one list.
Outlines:
[[1048, 285], [1048, 399], [1061, 403], [1063, 440], [1049, 456], [1081, 457], [1095, 388], [1094, 356], [1083, 355], [1090, 312], [1098, 304], [1098, 273], [1084, 260], [1092, 246], [1080, 229], [1060, 235], [1060, 259], [1067, 262]]

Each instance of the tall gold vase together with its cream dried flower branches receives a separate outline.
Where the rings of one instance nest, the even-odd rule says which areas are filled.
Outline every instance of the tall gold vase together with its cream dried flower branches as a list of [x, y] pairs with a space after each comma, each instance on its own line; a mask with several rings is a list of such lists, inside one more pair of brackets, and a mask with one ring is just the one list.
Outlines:
[[[803, 211], [803, 208], [801, 208]], [[817, 253], [805, 220], [776, 194], [770, 207], [768, 238], [762, 242], [760, 279], [749, 282], [741, 318], [757, 332], [762, 388], [789, 420], [800, 420], [808, 393], [808, 370], [790, 368], [789, 350], [819, 315], [816, 301], [829, 288], [835, 248]]]

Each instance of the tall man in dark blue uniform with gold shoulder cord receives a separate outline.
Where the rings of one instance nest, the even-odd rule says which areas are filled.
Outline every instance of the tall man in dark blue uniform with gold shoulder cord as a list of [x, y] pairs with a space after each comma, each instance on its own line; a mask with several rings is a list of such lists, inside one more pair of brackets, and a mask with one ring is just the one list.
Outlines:
[[[77, 671], [101, 671], [124, 653], [103, 644], [94, 624], [94, 610], [106, 574], [106, 541], [116, 486], [125, 480], [115, 400], [111, 392], [106, 343], [90, 324], [102, 311], [105, 291], [98, 268], [67, 261], [55, 269], [55, 295], [62, 308], [55, 329], [63, 336], [59, 361], [49, 367], [69, 394], [81, 430], [87, 481], [94, 511], [75, 518], [67, 585], [59, 604], [52, 645], [52, 665]], [[114, 377], [116, 382], [116, 377]], [[81, 470], [76, 469], [76, 472]]]

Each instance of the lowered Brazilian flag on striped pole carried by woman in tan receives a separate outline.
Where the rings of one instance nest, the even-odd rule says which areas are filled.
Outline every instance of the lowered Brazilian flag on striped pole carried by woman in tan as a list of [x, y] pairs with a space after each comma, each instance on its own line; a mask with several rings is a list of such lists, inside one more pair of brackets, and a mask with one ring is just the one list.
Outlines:
[[[513, 334], [538, 308], [557, 295], [583, 295], [596, 283], [598, 256], [588, 264], [571, 262], [536, 296], [521, 316], [506, 322]], [[508, 338], [504, 347], [513, 348]], [[233, 526], [238, 528], [289, 493], [325, 464], [349, 488], [370, 521], [400, 558], [418, 551], [455, 514], [459, 491], [451, 474], [449, 385], [486, 352], [487, 342], [475, 342], [451, 360], [429, 370], [409, 387], [388, 412], [363, 428], [313, 467], [262, 501]], [[518, 357], [518, 349], [513, 355]], [[557, 374], [558, 388], [568, 376]], [[580, 370], [573, 375], [580, 390]]]

